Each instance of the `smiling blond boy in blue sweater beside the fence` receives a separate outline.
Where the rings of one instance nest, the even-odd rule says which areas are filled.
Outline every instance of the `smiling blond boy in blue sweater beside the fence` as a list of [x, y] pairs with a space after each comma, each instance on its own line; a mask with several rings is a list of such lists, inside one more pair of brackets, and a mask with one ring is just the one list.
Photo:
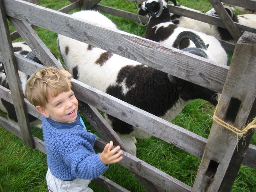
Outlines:
[[120, 146], [112, 149], [110, 141], [102, 153], [94, 152], [97, 136], [86, 131], [77, 112], [70, 77], [65, 70], [43, 68], [28, 79], [25, 97], [42, 114], [49, 191], [93, 192], [88, 187], [91, 179], [122, 160], [122, 150]]

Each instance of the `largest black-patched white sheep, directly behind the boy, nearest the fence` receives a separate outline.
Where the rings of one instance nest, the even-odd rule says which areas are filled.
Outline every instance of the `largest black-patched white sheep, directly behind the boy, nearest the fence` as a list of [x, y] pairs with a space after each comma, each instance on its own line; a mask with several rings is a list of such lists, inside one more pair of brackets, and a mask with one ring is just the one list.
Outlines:
[[[116, 28], [99, 12], [87, 10], [73, 16]], [[62, 35], [58, 36], [58, 47], [66, 69], [74, 78], [165, 120], [174, 119], [196, 98], [217, 104], [216, 92], [179, 78], [171, 82], [166, 73], [117, 54]], [[109, 115], [105, 118], [134, 154], [135, 138], [151, 136], [118, 118]]]

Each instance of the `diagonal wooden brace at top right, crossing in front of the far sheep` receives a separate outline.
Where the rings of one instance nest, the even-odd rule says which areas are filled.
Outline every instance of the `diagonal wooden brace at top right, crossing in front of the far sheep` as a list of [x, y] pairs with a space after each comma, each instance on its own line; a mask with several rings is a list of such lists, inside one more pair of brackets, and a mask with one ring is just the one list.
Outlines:
[[230, 32], [234, 40], [237, 41], [240, 36], [242, 36], [242, 33], [238, 30], [237, 26], [234, 24], [232, 18], [229, 16], [221, 2], [219, 0], [209, 0], [209, 2], [218, 13], [218, 16], [228, 29], [228, 32]]

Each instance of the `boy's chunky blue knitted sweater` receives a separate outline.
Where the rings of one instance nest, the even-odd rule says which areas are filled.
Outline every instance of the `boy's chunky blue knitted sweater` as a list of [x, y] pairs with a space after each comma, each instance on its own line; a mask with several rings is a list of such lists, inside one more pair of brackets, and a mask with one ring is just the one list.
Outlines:
[[42, 116], [47, 164], [52, 174], [61, 180], [94, 179], [104, 173], [109, 165], [100, 160], [93, 145], [96, 135], [77, 125], [56, 129]]

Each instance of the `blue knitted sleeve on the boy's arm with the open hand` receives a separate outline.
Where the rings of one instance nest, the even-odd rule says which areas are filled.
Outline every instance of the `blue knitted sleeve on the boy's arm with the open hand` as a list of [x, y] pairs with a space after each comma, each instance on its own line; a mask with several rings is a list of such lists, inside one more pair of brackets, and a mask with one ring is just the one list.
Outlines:
[[103, 174], [109, 167], [100, 160], [100, 154], [81, 147], [65, 156], [64, 161], [71, 167], [76, 178], [94, 179]]

